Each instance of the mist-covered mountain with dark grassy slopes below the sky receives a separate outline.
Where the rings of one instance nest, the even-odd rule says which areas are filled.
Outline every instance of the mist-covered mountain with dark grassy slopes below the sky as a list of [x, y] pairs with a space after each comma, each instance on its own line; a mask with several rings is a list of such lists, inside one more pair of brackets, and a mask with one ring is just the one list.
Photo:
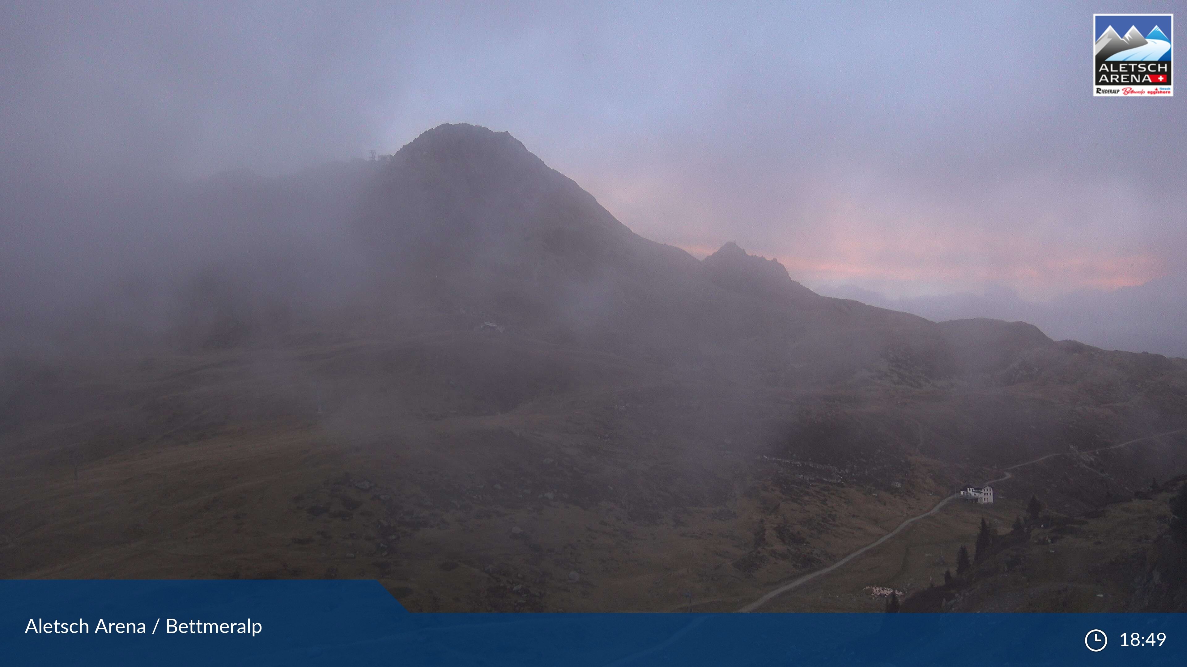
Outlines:
[[1187, 610], [1187, 360], [824, 297], [725, 239], [698, 260], [470, 125], [45, 205], [97, 222], [0, 313], [5, 578]]

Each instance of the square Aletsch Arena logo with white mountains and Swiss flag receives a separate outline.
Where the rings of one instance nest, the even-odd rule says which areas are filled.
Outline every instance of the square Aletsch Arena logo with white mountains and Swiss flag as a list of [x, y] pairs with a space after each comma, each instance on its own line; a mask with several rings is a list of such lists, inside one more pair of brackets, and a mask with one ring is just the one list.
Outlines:
[[1174, 14], [1093, 14], [1092, 23], [1093, 96], [1174, 95]]

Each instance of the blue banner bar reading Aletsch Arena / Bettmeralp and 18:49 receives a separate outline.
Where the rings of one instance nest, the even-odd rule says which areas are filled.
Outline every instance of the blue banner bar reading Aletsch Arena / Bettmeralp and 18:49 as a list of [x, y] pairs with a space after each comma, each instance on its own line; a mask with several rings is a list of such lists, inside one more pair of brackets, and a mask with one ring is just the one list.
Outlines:
[[0, 582], [2, 665], [1149, 666], [1185, 646], [1176, 614], [410, 614], [366, 580]]

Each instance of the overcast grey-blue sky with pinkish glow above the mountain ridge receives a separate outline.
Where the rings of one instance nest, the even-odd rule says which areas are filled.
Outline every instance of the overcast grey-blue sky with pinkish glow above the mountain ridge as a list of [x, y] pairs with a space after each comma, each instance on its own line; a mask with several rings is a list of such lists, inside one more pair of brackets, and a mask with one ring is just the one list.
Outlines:
[[1090, 89], [1093, 12], [1183, 2], [590, 5], [4, 1], [2, 176], [284, 173], [462, 121], [814, 287], [1187, 272], [1187, 90]]

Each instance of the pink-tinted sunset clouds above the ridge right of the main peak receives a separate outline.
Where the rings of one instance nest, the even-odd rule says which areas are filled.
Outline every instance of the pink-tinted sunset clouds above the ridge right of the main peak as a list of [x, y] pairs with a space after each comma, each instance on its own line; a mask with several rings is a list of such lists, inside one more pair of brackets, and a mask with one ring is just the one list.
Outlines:
[[840, 166], [768, 178], [732, 191], [671, 169], [594, 180], [645, 236], [696, 256], [735, 240], [808, 285], [942, 293], [992, 284], [1049, 298], [1174, 269], [1164, 220], [1122, 180], [1068, 186], [1040, 172], [969, 190]]

